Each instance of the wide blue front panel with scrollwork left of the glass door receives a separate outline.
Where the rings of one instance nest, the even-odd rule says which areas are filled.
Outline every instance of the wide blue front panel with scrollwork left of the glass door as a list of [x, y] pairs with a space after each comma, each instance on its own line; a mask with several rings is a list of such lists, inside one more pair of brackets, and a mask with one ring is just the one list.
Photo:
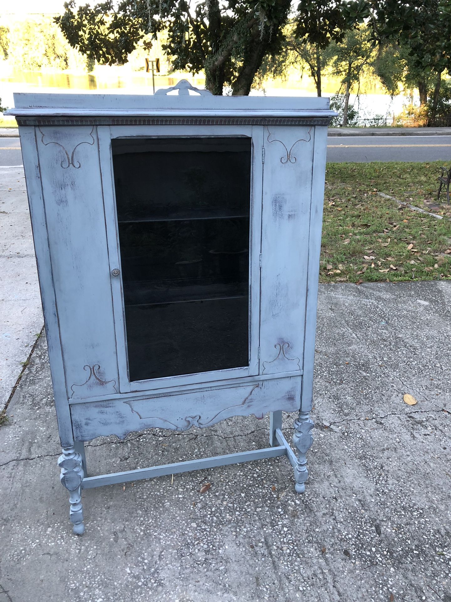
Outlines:
[[37, 128], [67, 396], [117, 393], [96, 128]]

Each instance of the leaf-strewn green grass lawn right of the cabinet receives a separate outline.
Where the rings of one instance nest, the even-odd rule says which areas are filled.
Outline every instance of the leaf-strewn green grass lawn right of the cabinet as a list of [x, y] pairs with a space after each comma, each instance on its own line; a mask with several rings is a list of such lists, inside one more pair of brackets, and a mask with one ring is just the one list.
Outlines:
[[[328, 164], [320, 281], [451, 278], [451, 208], [435, 200], [441, 165]], [[446, 217], [412, 211], [378, 192]]]

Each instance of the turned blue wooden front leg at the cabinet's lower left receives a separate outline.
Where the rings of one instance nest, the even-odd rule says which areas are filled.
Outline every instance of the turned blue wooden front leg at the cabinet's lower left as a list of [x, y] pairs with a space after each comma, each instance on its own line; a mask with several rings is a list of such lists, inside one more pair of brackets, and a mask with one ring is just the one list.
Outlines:
[[81, 503], [81, 482], [83, 480], [82, 457], [71, 447], [63, 447], [63, 454], [58, 458], [61, 468], [61, 483], [69, 491], [70, 520], [73, 523], [73, 532], [82, 535], [85, 531], [83, 524], [83, 506]]

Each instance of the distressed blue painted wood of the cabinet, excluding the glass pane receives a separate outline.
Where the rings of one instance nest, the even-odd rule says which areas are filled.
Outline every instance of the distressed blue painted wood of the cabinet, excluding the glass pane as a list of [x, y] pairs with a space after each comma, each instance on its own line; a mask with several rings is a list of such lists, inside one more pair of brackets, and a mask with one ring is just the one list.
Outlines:
[[[186, 86], [181, 86], [187, 92]], [[74, 531], [81, 488], [287, 455], [308, 477], [326, 98], [16, 94], [49, 360]], [[130, 383], [124, 337], [111, 138], [252, 140], [250, 364]], [[233, 175], [231, 175], [233, 177]], [[293, 453], [282, 411], [299, 411]], [[86, 476], [82, 441], [149, 427], [208, 427], [271, 412], [271, 447]]]

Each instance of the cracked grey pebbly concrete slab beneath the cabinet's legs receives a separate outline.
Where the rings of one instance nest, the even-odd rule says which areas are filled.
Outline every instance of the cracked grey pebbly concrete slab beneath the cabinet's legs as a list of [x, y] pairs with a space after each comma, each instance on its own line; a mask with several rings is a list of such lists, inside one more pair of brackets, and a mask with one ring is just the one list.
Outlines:
[[[81, 538], [41, 338], [0, 429], [0, 602], [451, 602], [450, 301], [450, 282], [320, 287], [304, 495], [286, 458], [90, 489]], [[267, 427], [99, 438], [88, 470], [266, 447]]]

